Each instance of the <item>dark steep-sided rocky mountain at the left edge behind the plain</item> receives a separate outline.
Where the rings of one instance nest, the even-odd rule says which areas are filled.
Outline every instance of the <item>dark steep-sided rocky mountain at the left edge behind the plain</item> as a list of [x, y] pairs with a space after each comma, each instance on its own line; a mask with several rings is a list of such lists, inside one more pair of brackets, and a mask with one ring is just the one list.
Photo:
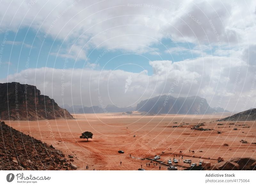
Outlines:
[[17, 82], [0, 83], [1, 120], [74, 119], [36, 86]]

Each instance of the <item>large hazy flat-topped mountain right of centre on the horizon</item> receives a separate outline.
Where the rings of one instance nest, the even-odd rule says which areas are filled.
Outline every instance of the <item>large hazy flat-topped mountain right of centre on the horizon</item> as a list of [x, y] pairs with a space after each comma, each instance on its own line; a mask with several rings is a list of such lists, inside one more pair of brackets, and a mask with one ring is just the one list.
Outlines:
[[[136, 110], [160, 114], [209, 114], [219, 112], [222, 108], [211, 108], [206, 99], [199, 96], [179, 97], [157, 96], [141, 101]], [[224, 109], [223, 109], [224, 110]]]

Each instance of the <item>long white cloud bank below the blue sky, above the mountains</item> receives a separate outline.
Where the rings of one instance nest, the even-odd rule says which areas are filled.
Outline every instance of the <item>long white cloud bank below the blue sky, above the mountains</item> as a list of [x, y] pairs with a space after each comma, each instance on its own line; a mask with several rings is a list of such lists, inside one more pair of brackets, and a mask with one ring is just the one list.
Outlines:
[[[151, 61], [149, 64], [154, 69], [154, 74], [151, 76], [147, 71], [132, 73], [122, 70], [98, 71], [89, 68], [64, 71], [52, 68], [29, 69], [28, 84], [36, 85], [42, 94], [49, 95], [59, 104], [62, 104], [63, 100], [69, 105], [99, 105], [98, 96], [100, 96], [106, 105], [128, 106], [136, 105], [140, 100], [168, 94], [172, 83], [179, 80], [179, 85], [175, 87], [172, 96], [203, 97], [205, 90], [209, 89], [206, 99], [214, 107], [225, 91], [221, 106], [232, 111], [239, 110], [244, 104], [255, 75], [255, 68], [248, 66], [237, 56], [198, 57], [175, 63], [168, 60]], [[24, 83], [25, 73], [25, 71], [18, 73], [17, 78], [20, 83]], [[15, 77], [16, 74], [9, 75], [1, 82], [12, 82]], [[128, 77], [131, 77], [132, 81], [129, 90], [125, 93]], [[61, 96], [61, 81], [65, 88], [63, 96]], [[251, 95], [254, 92], [253, 90]], [[251, 99], [248, 108], [253, 104]]]

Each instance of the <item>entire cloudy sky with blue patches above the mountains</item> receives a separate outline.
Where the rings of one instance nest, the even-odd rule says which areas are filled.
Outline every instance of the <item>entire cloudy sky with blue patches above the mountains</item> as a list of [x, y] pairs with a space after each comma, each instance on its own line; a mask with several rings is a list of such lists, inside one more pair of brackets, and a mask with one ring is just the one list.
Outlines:
[[[0, 82], [36, 85], [59, 105], [134, 106], [198, 95], [256, 107], [256, 2], [0, 2]], [[178, 85], [172, 87], [173, 82]]]

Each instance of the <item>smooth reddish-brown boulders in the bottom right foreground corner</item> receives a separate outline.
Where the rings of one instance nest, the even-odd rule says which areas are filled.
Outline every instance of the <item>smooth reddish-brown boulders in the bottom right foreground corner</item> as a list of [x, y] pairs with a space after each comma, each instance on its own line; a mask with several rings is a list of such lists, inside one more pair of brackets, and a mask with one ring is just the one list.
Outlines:
[[253, 158], [231, 158], [212, 165], [211, 170], [255, 170], [256, 160]]

